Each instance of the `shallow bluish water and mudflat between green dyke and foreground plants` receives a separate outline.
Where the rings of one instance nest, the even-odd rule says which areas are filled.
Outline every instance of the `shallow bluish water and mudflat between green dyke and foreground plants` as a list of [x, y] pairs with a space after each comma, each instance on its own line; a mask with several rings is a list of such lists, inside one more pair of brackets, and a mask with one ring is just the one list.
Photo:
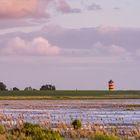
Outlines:
[[[128, 105], [135, 105], [128, 107]], [[140, 99], [118, 100], [9, 100], [0, 101], [2, 115], [13, 115], [16, 120], [23, 114], [24, 120], [36, 123], [71, 123], [78, 118], [83, 124], [140, 128]]]

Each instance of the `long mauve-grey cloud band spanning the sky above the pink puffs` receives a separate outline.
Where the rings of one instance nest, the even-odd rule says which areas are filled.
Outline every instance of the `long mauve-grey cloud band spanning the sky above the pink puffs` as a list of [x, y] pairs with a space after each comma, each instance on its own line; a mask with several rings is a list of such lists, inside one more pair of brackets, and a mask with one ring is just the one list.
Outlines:
[[117, 45], [133, 52], [140, 46], [139, 28], [118, 28], [118, 27], [90, 27], [81, 29], [66, 29], [59, 26], [44, 26], [39, 31], [33, 31], [28, 34], [15, 32], [0, 35], [1, 40], [20, 36], [21, 38], [32, 39], [38, 36], [47, 38], [56, 46], [63, 48], [89, 49], [97, 42], [105, 46]]

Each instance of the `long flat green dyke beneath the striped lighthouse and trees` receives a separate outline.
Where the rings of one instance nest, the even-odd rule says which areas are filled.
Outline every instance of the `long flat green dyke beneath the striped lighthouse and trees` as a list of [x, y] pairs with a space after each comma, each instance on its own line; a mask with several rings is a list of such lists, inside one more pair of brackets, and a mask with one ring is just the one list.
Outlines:
[[0, 91], [0, 99], [140, 99], [140, 91]]

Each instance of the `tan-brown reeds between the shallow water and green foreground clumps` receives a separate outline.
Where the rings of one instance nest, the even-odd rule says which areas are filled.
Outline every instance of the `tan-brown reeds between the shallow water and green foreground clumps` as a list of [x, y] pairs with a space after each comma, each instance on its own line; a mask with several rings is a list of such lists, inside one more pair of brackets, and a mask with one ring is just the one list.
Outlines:
[[[54, 118], [55, 116], [50, 116]], [[70, 116], [72, 117], [72, 116]], [[30, 122], [33, 124], [38, 124], [42, 129], [53, 130], [58, 132], [60, 136], [65, 139], [76, 139], [76, 138], [94, 138], [96, 135], [108, 135], [108, 136], [116, 136], [120, 139], [129, 138], [129, 139], [140, 139], [140, 127], [139, 125], [135, 125], [132, 128], [129, 127], [119, 127], [119, 126], [110, 126], [98, 123], [90, 123], [82, 125], [81, 129], [75, 130], [72, 126], [72, 122], [67, 123], [65, 120], [62, 122], [54, 123], [51, 118], [46, 117], [46, 120], [41, 120], [41, 118], [37, 118], [36, 116], [32, 116]], [[73, 120], [73, 119], [72, 119]], [[4, 127], [4, 132], [1, 133], [1, 137], [6, 136], [10, 130], [18, 128], [23, 128], [26, 120], [24, 118], [24, 114], [18, 114], [16, 117], [13, 114], [9, 115], [0, 115], [0, 125]]]

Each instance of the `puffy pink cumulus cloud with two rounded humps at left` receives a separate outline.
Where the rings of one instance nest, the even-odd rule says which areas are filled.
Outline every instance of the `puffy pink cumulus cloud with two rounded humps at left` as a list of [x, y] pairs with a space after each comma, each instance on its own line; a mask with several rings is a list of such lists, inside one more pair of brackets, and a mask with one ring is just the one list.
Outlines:
[[42, 37], [34, 38], [31, 41], [16, 37], [11, 39], [7, 46], [0, 48], [0, 54], [2, 55], [51, 56], [59, 53], [59, 47], [52, 46], [48, 40]]

